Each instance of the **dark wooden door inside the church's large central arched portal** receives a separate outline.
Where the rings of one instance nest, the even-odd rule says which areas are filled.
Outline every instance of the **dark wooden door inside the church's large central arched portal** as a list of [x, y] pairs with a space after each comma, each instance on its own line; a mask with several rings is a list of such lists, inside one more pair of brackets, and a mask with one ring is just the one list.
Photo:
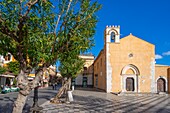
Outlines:
[[126, 78], [126, 91], [134, 91], [134, 79], [132, 77]]

